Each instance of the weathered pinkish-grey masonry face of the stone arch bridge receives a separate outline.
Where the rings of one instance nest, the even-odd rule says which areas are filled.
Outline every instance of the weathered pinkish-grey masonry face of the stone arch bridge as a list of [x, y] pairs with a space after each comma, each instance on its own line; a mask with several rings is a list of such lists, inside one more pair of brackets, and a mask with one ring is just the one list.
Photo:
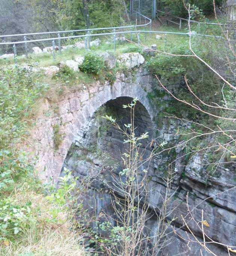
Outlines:
[[[58, 180], [70, 146], [78, 139], [82, 128], [92, 118], [95, 111], [106, 102], [116, 99], [115, 104], [119, 105], [119, 102], [130, 103], [132, 98], [137, 98], [139, 104], [143, 106], [142, 111], [146, 113], [137, 111], [136, 114], [153, 119], [155, 111], [147, 98], [152, 82], [151, 75], [144, 71], [143, 67], [139, 67], [135, 76], [130, 74], [129, 77], [125, 77], [123, 73], [117, 74], [113, 85], [108, 82], [101, 84], [97, 81], [89, 87], [84, 86], [83, 90], [65, 94], [56, 105], [45, 100], [32, 132], [36, 142], [34, 143], [38, 158], [36, 169], [39, 177], [42, 180], [51, 178], [54, 181]], [[127, 98], [126, 101], [124, 101], [125, 98]], [[55, 149], [54, 142], [55, 126], [57, 126], [57, 132], [61, 134], [57, 149]]]

